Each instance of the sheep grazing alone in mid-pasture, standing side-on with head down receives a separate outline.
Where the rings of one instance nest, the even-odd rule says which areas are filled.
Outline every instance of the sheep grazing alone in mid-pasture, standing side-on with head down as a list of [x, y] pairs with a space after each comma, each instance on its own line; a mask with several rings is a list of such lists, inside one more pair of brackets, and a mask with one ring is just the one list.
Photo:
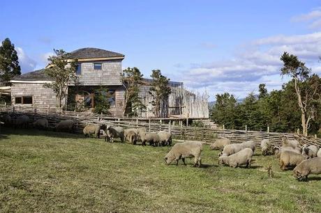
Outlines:
[[176, 159], [176, 166], [179, 164], [179, 159], [181, 159], [185, 164], [185, 158], [194, 157], [193, 166], [200, 167], [202, 164], [202, 159], [200, 157], [202, 152], [202, 143], [199, 141], [186, 141], [184, 143], [176, 143], [173, 145], [170, 152], [164, 157], [165, 164], [168, 166], [172, 161]]

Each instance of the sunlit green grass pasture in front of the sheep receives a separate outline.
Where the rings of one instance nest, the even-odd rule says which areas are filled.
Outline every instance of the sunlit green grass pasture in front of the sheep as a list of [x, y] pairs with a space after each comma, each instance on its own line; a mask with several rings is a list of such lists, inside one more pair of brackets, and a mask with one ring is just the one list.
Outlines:
[[[168, 147], [1, 129], [1, 212], [321, 212], [321, 177], [297, 182], [273, 156], [253, 168], [165, 166]], [[257, 152], [258, 153], [258, 152]], [[275, 177], [269, 178], [271, 163]]]

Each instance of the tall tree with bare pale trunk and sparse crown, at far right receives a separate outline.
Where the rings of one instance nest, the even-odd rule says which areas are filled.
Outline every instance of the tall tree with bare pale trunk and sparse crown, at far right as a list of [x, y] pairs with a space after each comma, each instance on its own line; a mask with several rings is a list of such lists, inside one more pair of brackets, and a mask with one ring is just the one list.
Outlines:
[[311, 120], [315, 119], [316, 103], [320, 102], [321, 84], [316, 77], [311, 77], [311, 70], [297, 56], [284, 52], [281, 56], [283, 68], [282, 75], [288, 75], [294, 81], [297, 102], [301, 111], [301, 126], [304, 136], [308, 136], [308, 127]]

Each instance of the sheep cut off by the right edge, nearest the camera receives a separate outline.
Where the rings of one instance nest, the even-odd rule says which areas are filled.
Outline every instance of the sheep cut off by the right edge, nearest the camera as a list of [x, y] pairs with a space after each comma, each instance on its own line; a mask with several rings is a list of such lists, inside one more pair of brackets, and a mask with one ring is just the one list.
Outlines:
[[309, 174], [321, 174], [321, 157], [301, 161], [301, 163], [294, 168], [293, 174], [299, 181], [308, 181]]

